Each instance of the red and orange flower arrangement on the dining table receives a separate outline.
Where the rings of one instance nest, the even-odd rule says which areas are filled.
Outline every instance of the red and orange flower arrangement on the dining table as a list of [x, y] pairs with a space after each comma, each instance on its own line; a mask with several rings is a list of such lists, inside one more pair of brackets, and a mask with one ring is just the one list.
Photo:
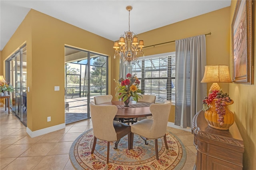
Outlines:
[[[114, 79], [114, 81], [116, 81]], [[117, 82], [117, 81], [116, 81]], [[126, 79], [120, 78], [118, 80], [119, 85], [116, 87], [117, 92], [116, 92], [116, 97], [118, 99], [122, 99], [122, 101], [126, 101], [127, 99], [132, 99], [134, 101], [138, 101], [138, 98], [142, 97], [139, 93], [141, 93], [141, 90], [138, 88], [140, 85], [139, 79], [134, 75], [128, 73], [126, 75]]]

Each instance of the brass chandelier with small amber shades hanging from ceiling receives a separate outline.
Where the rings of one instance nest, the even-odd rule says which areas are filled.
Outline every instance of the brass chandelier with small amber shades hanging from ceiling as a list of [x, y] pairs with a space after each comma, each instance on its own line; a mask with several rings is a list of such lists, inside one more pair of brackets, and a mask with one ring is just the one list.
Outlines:
[[124, 32], [123, 35], [121, 35], [119, 42], [114, 42], [114, 49], [115, 49], [115, 55], [120, 57], [124, 62], [124, 64], [129, 65], [135, 64], [135, 61], [138, 60], [138, 55], [143, 55], [143, 47], [144, 42], [143, 40], [138, 41], [137, 34], [134, 34], [134, 32], [130, 32], [130, 11], [132, 10], [132, 6], [126, 6], [126, 10], [129, 11], [129, 31]]

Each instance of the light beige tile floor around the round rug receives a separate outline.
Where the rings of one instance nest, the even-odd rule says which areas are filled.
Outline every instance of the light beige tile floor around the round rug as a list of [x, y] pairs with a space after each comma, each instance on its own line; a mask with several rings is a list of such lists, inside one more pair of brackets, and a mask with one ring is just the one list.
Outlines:
[[[74, 170], [69, 149], [82, 132], [92, 128], [91, 120], [66, 125], [66, 128], [31, 138], [26, 127], [4, 108], [0, 109], [1, 170]], [[192, 170], [196, 160], [193, 134], [171, 128], [186, 146], [187, 158], [182, 170]]]

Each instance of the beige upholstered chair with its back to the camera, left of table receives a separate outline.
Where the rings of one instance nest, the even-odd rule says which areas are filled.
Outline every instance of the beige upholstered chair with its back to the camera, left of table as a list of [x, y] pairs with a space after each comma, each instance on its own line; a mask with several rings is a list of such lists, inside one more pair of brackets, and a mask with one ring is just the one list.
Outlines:
[[[118, 121], [113, 121], [116, 112], [117, 107], [115, 105], [95, 105], [93, 101], [90, 102], [90, 113], [94, 133], [94, 141], [91, 154], [94, 152], [97, 139], [106, 140], [108, 142], [107, 164], [109, 162], [110, 141], [119, 140], [131, 132], [131, 127], [129, 125]], [[129, 135], [128, 149], [130, 149]]]

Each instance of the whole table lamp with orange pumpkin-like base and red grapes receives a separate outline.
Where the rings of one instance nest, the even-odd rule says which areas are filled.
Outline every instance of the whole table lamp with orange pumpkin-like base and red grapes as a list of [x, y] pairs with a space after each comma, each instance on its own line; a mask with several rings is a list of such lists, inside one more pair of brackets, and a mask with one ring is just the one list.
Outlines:
[[218, 83], [232, 83], [228, 65], [206, 65], [201, 83], [213, 83], [203, 100], [204, 117], [208, 125], [219, 130], [228, 130], [234, 123], [234, 113], [228, 109], [234, 101], [223, 93]]

